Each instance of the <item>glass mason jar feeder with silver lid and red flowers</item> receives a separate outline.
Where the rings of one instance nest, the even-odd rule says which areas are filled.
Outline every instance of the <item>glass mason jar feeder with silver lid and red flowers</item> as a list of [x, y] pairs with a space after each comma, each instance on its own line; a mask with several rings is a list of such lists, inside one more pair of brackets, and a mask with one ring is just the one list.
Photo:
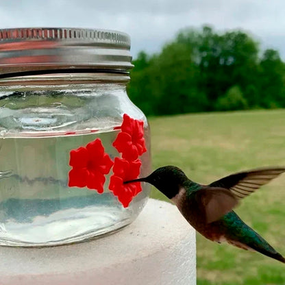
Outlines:
[[129, 36], [0, 30], [0, 245], [75, 243], [145, 206], [149, 125], [127, 97]]

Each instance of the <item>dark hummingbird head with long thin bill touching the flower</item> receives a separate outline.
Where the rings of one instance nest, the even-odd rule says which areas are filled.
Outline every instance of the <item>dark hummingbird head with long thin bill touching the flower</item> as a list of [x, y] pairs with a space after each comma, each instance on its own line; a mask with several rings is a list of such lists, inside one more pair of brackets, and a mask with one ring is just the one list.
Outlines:
[[149, 176], [124, 182], [147, 182], [160, 190], [166, 197], [172, 199], [179, 193], [183, 182], [188, 179], [185, 173], [176, 166], [162, 166]]

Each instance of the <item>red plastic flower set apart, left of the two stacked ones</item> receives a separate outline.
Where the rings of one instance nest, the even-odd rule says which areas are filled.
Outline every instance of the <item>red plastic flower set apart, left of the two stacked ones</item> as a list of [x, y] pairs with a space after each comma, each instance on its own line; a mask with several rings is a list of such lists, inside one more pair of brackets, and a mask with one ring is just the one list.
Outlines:
[[73, 167], [69, 171], [69, 187], [86, 187], [96, 189], [103, 193], [105, 175], [110, 172], [114, 162], [104, 152], [101, 140], [88, 143], [86, 147], [73, 149], [70, 153], [69, 165]]

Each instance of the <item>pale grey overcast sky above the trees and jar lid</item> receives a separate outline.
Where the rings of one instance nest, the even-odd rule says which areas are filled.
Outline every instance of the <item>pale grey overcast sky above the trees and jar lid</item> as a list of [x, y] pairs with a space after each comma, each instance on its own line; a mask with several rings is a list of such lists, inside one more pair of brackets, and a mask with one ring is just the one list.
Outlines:
[[0, 27], [90, 27], [127, 32], [132, 55], [160, 51], [184, 27], [241, 28], [285, 59], [284, 0], [0, 0]]

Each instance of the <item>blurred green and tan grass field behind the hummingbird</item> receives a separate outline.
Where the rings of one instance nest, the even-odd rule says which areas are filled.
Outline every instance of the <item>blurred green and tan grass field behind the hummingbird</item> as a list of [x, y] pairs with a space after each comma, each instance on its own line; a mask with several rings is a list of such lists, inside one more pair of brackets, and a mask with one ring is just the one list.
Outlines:
[[[186, 114], [149, 123], [153, 169], [176, 165], [195, 182], [285, 165], [285, 110]], [[165, 199], [156, 189], [151, 195]], [[236, 212], [285, 255], [285, 174], [244, 199]], [[197, 234], [197, 284], [284, 285], [285, 264]]]

